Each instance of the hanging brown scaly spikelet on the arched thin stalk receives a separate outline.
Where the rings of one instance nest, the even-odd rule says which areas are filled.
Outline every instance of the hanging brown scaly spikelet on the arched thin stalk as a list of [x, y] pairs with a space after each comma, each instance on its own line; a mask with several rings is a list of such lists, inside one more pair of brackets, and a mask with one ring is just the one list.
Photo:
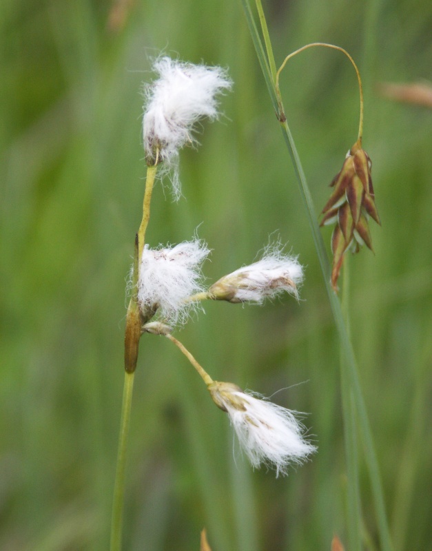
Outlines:
[[342, 169], [330, 185], [333, 192], [322, 209], [320, 226], [336, 222], [331, 236], [331, 285], [337, 291], [344, 253], [349, 248], [357, 253], [362, 245], [367, 245], [373, 251], [369, 216], [378, 224], [381, 223], [375, 206], [371, 160], [362, 149], [361, 138], [349, 150]]

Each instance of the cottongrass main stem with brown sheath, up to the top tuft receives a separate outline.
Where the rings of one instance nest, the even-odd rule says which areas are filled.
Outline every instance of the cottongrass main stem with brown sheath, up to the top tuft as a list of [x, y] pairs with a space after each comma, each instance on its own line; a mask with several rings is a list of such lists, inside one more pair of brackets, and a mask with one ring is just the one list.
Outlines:
[[114, 481], [114, 498], [112, 502], [111, 520], [111, 544], [110, 551], [121, 551], [121, 536], [123, 529], [123, 508], [125, 502], [125, 471], [127, 457], [127, 437], [129, 435], [130, 411], [132, 408], [132, 391], [134, 388], [134, 375], [138, 360], [138, 344], [141, 337], [141, 327], [147, 320], [143, 319], [138, 305], [138, 278], [145, 244], [145, 231], [150, 219], [150, 202], [154, 178], [156, 176], [158, 156], [156, 163], [147, 167], [145, 179], [145, 191], [143, 199], [143, 218], [135, 238], [134, 267], [132, 271], [132, 296], [126, 314], [125, 328], [125, 382], [123, 386], [123, 402], [121, 405], [121, 421], [119, 435], [119, 450], [117, 453], [116, 479]]

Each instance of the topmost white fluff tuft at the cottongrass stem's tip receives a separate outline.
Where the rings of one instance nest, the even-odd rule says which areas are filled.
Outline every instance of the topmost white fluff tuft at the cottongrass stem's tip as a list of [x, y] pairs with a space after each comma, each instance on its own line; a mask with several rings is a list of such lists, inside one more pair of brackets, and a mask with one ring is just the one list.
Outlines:
[[154, 160], [156, 148], [165, 170], [172, 170], [174, 197], [181, 196], [178, 151], [196, 141], [194, 124], [207, 116], [218, 116], [216, 94], [232, 82], [221, 67], [193, 65], [161, 57], [153, 65], [158, 79], [145, 88], [143, 141], [147, 160]]

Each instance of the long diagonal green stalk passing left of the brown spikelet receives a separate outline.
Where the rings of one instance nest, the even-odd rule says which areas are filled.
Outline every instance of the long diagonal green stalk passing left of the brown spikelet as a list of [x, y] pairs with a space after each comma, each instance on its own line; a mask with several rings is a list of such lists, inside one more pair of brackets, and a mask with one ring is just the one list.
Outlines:
[[[356, 408], [356, 415], [358, 417], [358, 424], [360, 426], [360, 430], [362, 431], [362, 436], [364, 440], [364, 453], [369, 469], [369, 477], [371, 479], [371, 488], [373, 493], [373, 501], [375, 503], [382, 551], [391, 551], [392, 545], [387, 523], [387, 514], [384, 506], [384, 495], [382, 492], [380, 471], [378, 467], [375, 447], [373, 445], [371, 426], [367, 417], [367, 410], [364, 404], [364, 398], [360, 387], [356, 357], [354, 355], [353, 346], [351, 344], [347, 326], [345, 326], [344, 323], [340, 301], [336, 293], [333, 291], [333, 289], [331, 289], [329, 260], [327, 258], [324, 240], [322, 239], [320, 228], [316, 220], [315, 208], [313, 206], [313, 200], [309, 191], [309, 186], [307, 185], [307, 180], [302, 168], [302, 164], [300, 162], [300, 158], [298, 156], [294, 139], [287, 124], [285, 110], [282, 104], [282, 98], [278, 96], [276, 92], [276, 82], [274, 81], [274, 79], [272, 79], [271, 72], [269, 70], [269, 65], [272, 65], [274, 63], [274, 60], [269, 62], [267, 59], [265, 59], [263, 44], [258, 34], [258, 30], [256, 28], [254, 17], [251, 13], [249, 2], [247, 0], [242, 0], [242, 4], [245, 10], [247, 23], [249, 25], [249, 32], [251, 33], [252, 41], [254, 42], [256, 54], [258, 56], [258, 61], [260, 63], [261, 69], [263, 70], [265, 82], [267, 83], [271, 102], [275, 107], [276, 115], [278, 116], [278, 121], [282, 130], [282, 135], [285, 139], [285, 143], [287, 144], [287, 148], [294, 165], [294, 171], [298, 180], [300, 194], [302, 196], [302, 201], [307, 211], [307, 217], [312, 231], [313, 242], [316, 247], [322, 275], [325, 280], [325, 286], [327, 289], [327, 295], [329, 296], [331, 311], [333, 313], [336, 329], [340, 338], [340, 347], [346, 360], [343, 367], [346, 370], [347, 380], [349, 382], [349, 386], [351, 387], [353, 403]], [[266, 37], [268, 37], [269, 35], [267, 31], [267, 25], [265, 23], [265, 18], [261, 17], [260, 21], [264, 22], [263, 24], [266, 28], [266, 30], [263, 30], [263, 37], [266, 40]], [[269, 41], [268, 38], [267, 40]], [[271, 52], [271, 49], [267, 48], [267, 52]]]

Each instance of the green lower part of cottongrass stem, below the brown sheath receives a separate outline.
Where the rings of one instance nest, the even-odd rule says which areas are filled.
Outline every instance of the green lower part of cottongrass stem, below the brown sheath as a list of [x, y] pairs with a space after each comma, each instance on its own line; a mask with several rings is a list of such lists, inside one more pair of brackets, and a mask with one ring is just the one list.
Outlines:
[[132, 391], [135, 373], [125, 372], [123, 387], [123, 403], [121, 406], [121, 421], [119, 435], [119, 452], [117, 454], [116, 480], [114, 482], [114, 499], [112, 502], [111, 544], [110, 551], [121, 550], [121, 532], [123, 526], [123, 508], [125, 494], [125, 470], [127, 435], [130, 425], [130, 410], [132, 406]]

